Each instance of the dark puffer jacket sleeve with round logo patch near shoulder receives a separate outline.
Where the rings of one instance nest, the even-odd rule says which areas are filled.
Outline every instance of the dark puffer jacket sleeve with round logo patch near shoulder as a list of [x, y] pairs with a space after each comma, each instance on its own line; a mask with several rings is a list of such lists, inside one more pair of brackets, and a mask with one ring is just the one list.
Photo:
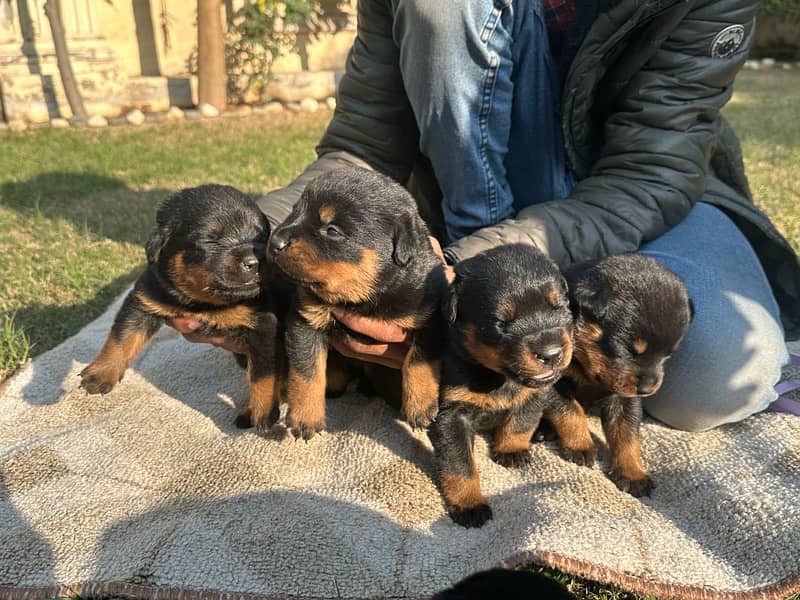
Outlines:
[[[755, 0], [694, 0], [611, 104], [602, 149], [570, 196], [451, 244], [458, 261], [532, 243], [560, 266], [636, 250], [679, 223], [705, 191], [719, 111], [753, 38]], [[658, 18], [658, 17], [656, 17]], [[744, 27], [741, 46], [713, 56], [715, 35]], [[647, 48], [640, 42], [639, 48]]]

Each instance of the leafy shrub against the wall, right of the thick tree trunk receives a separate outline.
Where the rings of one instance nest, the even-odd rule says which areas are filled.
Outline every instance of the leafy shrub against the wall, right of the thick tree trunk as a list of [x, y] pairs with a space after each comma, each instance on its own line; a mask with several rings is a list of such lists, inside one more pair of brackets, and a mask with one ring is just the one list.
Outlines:
[[297, 48], [298, 34], [312, 39], [347, 22], [346, 0], [255, 0], [229, 20], [225, 60], [233, 103], [263, 101], [275, 61]]

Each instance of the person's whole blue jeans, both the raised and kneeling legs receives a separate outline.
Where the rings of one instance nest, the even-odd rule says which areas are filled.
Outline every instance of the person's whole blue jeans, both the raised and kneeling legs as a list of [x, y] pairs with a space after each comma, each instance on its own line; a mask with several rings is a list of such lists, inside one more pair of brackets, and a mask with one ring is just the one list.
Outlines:
[[[442, 189], [450, 239], [569, 194], [559, 79], [538, 0], [392, 0], [420, 149]], [[641, 251], [686, 282], [696, 315], [644, 402], [703, 430], [763, 410], [788, 359], [778, 308], [752, 248], [709, 204]]]

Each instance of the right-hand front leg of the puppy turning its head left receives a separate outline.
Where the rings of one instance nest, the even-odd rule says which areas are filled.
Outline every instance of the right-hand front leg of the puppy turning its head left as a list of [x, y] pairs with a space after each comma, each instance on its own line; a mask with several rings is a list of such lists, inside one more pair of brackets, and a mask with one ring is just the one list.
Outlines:
[[403, 362], [402, 411], [412, 427], [427, 427], [439, 411], [441, 335], [435, 323], [414, 333]]

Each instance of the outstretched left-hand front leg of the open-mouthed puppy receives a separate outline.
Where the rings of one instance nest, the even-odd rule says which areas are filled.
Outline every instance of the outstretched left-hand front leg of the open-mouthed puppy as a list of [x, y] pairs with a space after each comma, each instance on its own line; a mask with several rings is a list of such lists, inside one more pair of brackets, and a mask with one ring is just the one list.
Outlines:
[[463, 410], [458, 404], [445, 405], [431, 426], [430, 439], [447, 513], [459, 525], [481, 527], [492, 518], [492, 509], [481, 492], [472, 454], [475, 431]]

